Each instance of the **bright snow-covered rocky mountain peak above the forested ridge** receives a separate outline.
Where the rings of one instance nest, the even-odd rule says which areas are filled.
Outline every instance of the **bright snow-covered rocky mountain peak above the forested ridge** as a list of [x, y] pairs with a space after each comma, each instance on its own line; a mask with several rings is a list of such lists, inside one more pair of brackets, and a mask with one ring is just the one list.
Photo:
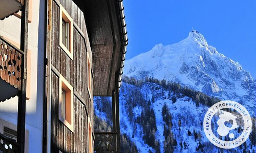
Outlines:
[[238, 62], [208, 45], [204, 36], [195, 30], [178, 43], [158, 44], [125, 61], [124, 74], [179, 82], [207, 95], [242, 103], [255, 114], [255, 80]]

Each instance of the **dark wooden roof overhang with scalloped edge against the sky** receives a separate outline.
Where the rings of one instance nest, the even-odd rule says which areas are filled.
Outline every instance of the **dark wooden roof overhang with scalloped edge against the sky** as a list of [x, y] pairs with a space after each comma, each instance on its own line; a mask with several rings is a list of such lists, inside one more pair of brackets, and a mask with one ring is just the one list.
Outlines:
[[93, 95], [111, 96], [115, 74], [119, 87], [128, 44], [124, 6], [120, 0], [86, 0], [85, 22], [92, 48]]

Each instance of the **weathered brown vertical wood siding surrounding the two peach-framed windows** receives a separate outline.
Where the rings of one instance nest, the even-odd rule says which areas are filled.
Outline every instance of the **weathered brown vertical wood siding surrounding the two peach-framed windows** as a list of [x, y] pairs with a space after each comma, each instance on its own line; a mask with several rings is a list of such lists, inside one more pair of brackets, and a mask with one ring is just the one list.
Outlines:
[[[73, 86], [74, 93], [77, 93], [78, 97], [80, 96], [82, 99], [74, 95], [74, 133], [72, 133], [58, 117], [59, 77], [52, 72], [52, 147], [66, 153], [85, 153], [87, 152], [88, 117], [93, 125], [93, 99], [90, 101], [87, 91], [86, 47], [88, 45], [84, 43], [83, 36], [74, 27], [73, 61], [61, 49], [59, 46], [59, 6], [55, 1], [53, 2], [52, 66]], [[83, 10], [80, 10], [72, 0], [61, 0], [60, 4], [85, 35], [86, 25]]]

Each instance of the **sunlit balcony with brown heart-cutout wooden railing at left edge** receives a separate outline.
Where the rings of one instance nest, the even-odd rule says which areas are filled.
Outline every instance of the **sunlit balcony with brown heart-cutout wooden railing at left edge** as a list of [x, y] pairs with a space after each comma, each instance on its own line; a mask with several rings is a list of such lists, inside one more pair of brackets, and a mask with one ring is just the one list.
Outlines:
[[23, 52], [0, 36], [0, 102], [21, 91]]

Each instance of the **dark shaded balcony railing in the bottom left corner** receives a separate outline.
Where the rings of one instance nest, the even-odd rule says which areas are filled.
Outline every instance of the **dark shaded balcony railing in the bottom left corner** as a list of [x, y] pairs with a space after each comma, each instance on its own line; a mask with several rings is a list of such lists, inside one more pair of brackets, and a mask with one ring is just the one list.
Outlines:
[[0, 152], [19, 153], [20, 144], [0, 133]]

